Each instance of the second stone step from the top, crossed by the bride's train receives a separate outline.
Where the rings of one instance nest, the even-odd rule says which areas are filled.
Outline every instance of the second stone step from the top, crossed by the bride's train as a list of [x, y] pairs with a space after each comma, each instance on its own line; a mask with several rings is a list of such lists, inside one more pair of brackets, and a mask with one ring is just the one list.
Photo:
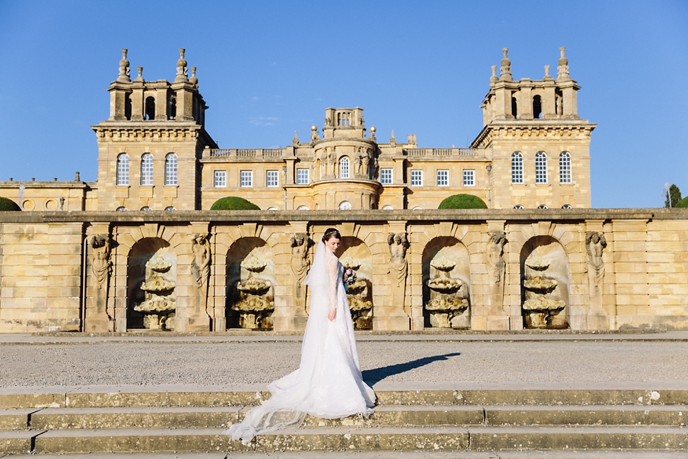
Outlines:
[[[241, 407], [111, 407], [0, 410], [6, 431], [67, 428], [221, 428], [243, 419]], [[319, 419], [324, 426], [685, 426], [688, 405], [382, 405], [368, 418]]]

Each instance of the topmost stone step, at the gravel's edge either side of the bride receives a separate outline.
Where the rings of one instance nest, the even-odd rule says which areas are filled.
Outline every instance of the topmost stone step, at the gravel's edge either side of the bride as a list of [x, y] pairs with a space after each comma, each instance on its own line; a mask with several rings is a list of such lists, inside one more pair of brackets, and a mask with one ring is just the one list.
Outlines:
[[[652, 405], [688, 404], [688, 389], [477, 389], [477, 390], [377, 390], [379, 404], [460, 405]], [[0, 392], [2, 408], [45, 407], [221, 407], [254, 406], [270, 392], [240, 390], [113, 390], [77, 389], [71, 392]]]

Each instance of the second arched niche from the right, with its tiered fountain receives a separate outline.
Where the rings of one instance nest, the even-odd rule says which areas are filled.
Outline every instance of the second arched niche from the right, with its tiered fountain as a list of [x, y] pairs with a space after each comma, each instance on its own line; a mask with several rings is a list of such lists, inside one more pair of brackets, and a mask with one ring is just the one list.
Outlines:
[[470, 258], [451, 236], [434, 238], [423, 250], [423, 317], [431, 328], [470, 328]]

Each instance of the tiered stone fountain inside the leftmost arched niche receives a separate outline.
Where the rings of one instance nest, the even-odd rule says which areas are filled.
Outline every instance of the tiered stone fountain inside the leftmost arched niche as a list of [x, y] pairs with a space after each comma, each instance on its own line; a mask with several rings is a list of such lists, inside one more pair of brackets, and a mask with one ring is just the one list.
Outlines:
[[145, 293], [144, 301], [134, 306], [143, 313], [143, 326], [150, 330], [174, 330], [174, 311], [177, 302], [172, 292], [177, 285], [165, 278], [172, 262], [160, 256], [151, 258], [145, 264], [145, 282], [140, 289]]

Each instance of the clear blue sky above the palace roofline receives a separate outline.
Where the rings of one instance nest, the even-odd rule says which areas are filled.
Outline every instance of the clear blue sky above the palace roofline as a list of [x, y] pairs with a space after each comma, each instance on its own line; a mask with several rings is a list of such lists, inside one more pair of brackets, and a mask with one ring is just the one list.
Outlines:
[[221, 148], [289, 145], [328, 106], [361, 106], [378, 138], [466, 146], [482, 128], [490, 66], [553, 72], [567, 47], [592, 134], [594, 207], [688, 195], [685, 1], [0, 0], [0, 180], [97, 177], [92, 124], [108, 117], [121, 48], [132, 74], [198, 67]]

